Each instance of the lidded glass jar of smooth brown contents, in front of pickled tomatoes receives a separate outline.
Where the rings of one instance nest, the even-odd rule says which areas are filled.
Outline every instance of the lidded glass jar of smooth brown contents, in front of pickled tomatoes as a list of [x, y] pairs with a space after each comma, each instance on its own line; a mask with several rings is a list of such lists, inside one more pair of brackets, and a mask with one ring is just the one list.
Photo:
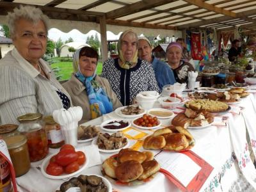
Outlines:
[[16, 177], [20, 177], [29, 171], [30, 161], [26, 136], [20, 134], [4, 138]]

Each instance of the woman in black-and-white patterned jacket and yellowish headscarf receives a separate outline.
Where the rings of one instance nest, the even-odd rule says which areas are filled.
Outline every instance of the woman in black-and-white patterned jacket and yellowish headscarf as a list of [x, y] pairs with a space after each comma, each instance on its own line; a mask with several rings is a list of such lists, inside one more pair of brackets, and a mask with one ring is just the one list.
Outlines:
[[109, 58], [103, 64], [102, 77], [108, 79], [111, 88], [124, 106], [140, 92], [157, 91], [152, 65], [138, 58], [138, 36], [131, 30], [124, 31], [118, 40], [118, 58]]

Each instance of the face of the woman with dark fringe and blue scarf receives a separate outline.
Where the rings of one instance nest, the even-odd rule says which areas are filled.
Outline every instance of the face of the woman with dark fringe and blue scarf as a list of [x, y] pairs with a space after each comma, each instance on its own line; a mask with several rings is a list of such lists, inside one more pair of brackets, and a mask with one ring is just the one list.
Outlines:
[[80, 72], [84, 75], [84, 77], [91, 77], [93, 76], [95, 68], [97, 67], [97, 58], [81, 56], [79, 58], [79, 67]]

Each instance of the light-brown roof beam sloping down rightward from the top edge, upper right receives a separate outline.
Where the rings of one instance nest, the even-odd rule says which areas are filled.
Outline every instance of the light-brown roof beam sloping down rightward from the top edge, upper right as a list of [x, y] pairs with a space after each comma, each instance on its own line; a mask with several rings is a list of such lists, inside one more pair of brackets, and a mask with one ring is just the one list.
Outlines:
[[209, 10], [211, 12], [221, 13], [223, 15], [227, 15], [230, 17], [236, 17], [236, 13], [230, 12], [228, 10], [224, 10], [222, 8], [219, 8], [209, 3], [205, 3], [202, 0], [184, 0], [184, 1], [194, 4], [195, 6], [199, 6], [200, 8], [204, 8], [205, 10]]

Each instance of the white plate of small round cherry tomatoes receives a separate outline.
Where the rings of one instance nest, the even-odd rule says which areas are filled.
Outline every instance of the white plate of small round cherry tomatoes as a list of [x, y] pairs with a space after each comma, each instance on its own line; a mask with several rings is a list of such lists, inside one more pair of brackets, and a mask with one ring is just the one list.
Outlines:
[[156, 116], [144, 114], [140, 118], [134, 119], [132, 125], [140, 129], [156, 129], [161, 126], [161, 122]]

